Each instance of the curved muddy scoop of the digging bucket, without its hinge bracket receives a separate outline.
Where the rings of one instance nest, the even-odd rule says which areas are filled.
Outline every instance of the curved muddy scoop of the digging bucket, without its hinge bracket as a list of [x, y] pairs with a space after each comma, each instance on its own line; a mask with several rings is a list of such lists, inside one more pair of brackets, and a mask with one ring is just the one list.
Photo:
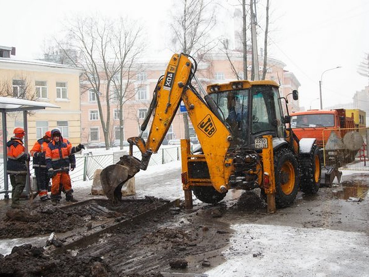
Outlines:
[[122, 199], [122, 187], [133, 176], [128, 175], [128, 168], [124, 165], [113, 164], [104, 168], [100, 174], [101, 185], [106, 196], [117, 202]]

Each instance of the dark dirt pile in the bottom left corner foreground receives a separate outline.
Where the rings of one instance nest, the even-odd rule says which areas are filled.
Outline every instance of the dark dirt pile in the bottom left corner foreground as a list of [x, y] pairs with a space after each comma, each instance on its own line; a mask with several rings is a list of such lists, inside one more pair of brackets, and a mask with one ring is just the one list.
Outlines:
[[0, 276], [117, 276], [100, 257], [47, 255], [42, 247], [23, 244], [0, 257]]

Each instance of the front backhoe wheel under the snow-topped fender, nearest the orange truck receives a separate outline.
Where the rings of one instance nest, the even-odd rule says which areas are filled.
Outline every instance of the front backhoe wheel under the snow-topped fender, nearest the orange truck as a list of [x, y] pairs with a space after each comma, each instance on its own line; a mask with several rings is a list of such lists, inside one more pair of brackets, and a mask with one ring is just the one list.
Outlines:
[[301, 155], [301, 190], [306, 194], [316, 194], [320, 187], [320, 153], [316, 144], [309, 154]]

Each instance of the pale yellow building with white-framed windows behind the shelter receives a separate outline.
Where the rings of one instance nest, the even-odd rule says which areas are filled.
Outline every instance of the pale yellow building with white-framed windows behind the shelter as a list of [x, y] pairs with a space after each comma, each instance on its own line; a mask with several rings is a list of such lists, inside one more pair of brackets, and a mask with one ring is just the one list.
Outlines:
[[[81, 141], [80, 74], [68, 65], [12, 57], [15, 48], [0, 46], [0, 95], [40, 100], [60, 109], [46, 108], [28, 114], [28, 144], [45, 131], [58, 127], [72, 144]], [[23, 113], [7, 116], [7, 138], [14, 127], [23, 127]]]

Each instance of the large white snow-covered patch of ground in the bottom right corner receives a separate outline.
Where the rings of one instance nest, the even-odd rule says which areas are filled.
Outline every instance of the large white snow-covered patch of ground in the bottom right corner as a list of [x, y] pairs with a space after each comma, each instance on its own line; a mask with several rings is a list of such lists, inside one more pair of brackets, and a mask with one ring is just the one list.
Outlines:
[[225, 263], [208, 276], [369, 276], [366, 234], [257, 224], [232, 229]]

